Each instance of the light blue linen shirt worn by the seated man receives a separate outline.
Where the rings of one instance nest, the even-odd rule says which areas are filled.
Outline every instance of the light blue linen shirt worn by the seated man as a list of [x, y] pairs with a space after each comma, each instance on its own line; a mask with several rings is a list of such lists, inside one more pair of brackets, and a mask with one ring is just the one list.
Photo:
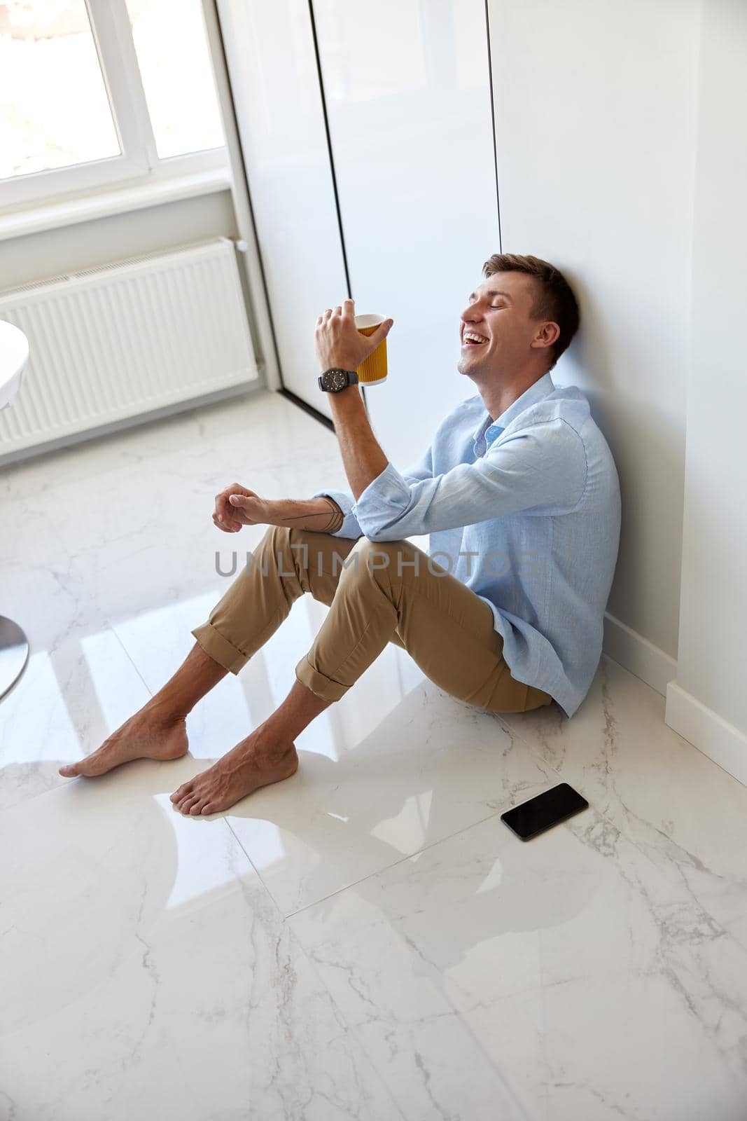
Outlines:
[[599, 664], [620, 491], [609, 446], [576, 386], [545, 373], [494, 421], [477, 393], [423, 455], [393, 463], [342, 508], [335, 537], [429, 534], [429, 555], [484, 600], [512, 676], [572, 716]]

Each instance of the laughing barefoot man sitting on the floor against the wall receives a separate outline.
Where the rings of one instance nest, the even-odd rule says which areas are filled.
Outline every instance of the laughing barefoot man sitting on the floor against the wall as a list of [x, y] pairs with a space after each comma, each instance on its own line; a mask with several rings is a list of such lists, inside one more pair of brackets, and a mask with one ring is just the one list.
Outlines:
[[[184, 756], [193, 706], [240, 671], [305, 592], [329, 611], [293, 687], [263, 724], [171, 795], [183, 814], [228, 809], [295, 773], [295, 738], [390, 641], [467, 703], [526, 712], [554, 698], [573, 714], [601, 652], [619, 543], [617, 472], [586, 397], [550, 378], [579, 323], [564, 277], [547, 261], [507, 253], [491, 257], [483, 274], [461, 314], [457, 367], [478, 393], [449, 413], [403, 474], [372, 432], [354, 373], [392, 321], [361, 335], [349, 299], [319, 316], [319, 388], [329, 392], [351, 492], [273, 501], [236, 483], [218, 494], [220, 529], [271, 527], [253, 563], [192, 632], [196, 645], [174, 677], [60, 775]], [[430, 555], [405, 540], [426, 532]]]

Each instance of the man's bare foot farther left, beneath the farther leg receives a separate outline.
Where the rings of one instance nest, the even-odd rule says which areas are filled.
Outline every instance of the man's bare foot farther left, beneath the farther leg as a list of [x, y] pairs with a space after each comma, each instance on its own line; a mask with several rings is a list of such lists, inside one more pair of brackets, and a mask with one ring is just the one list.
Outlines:
[[147, 704], [104, 740], [97, 751], [77, 763], [59, 768], [64, 778], [104, 775], [132, 759], [180, 759], [188, 750], [184, 716], [165, 713]]

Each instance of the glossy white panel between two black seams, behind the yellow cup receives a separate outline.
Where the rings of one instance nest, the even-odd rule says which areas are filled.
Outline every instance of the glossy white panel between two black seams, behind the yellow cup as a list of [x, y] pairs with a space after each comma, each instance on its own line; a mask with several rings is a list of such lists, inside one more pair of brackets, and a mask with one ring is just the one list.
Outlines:
[[476, 392], [457, 370], [459, 314], [499, 250], [485, 4], [314, 8], [355, 308], [394, 319], [366, 404], [403, 470]]

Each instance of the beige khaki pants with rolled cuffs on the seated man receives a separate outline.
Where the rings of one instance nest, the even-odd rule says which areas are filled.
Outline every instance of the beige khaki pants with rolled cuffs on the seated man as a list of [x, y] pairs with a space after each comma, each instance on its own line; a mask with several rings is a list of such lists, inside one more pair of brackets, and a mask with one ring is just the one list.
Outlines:
[[511, 676], [487, 603], [407, 540], [271, 526], [208, 621], [192, 633], [237, 674], [305, 592], [329, 611], [296, 677], [324, 701], [339, 701], [387, 642], [468, 704], [526, 712], [552, 701]]

